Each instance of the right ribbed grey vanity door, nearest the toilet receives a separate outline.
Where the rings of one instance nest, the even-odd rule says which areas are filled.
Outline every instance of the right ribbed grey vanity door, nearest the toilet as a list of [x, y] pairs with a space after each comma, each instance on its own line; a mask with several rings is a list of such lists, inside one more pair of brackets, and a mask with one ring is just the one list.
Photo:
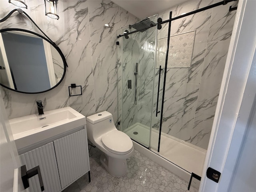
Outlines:
[[88, 172], [85, 130], [54, 141], [62, 188]]

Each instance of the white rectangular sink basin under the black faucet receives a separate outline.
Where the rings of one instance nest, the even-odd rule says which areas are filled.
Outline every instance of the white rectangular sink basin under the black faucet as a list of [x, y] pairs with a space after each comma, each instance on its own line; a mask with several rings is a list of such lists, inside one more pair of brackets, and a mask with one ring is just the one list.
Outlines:
[[86, 118], [71, 107], [10, 120], [17, 149], [41, 142], [86, 124]]

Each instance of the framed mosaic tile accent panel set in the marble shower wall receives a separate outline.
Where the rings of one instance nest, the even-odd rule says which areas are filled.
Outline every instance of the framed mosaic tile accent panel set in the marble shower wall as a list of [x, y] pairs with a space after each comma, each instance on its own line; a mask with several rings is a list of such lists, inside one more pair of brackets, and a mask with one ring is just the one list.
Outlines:
[[[196, 31], [170, 37], [168, 68], [190, 67]], [[158, 40], [158, 65], [164, 66], [167, 50], [167, 37]]]

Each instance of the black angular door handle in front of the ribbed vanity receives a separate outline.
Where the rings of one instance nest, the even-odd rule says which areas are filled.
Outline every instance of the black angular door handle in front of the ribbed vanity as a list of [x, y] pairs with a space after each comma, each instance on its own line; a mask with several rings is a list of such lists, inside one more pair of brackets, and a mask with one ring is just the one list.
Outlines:
[[27, 170], [26, 165], [21, 166], [21, 179], [25, 189], [29, 187], [28, 179], [37, 174], [40, 182], [41, 191], [44, 191], [44, 184], [39, 166], [36, 166], [30, 170]]

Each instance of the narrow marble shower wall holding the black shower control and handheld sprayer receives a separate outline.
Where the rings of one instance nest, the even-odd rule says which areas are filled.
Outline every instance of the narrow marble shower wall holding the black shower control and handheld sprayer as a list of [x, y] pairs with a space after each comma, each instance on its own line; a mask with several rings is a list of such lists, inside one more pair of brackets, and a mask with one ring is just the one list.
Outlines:
[[[117, 31], [122, 34], [122, 30]], [[120, 127], [125, 130], [138, 121], [138, 109], [134, 104], [134, 89], [135, 89], [135, 64], [140, 56], [140, 34], [135, 33], [129, 36], [128, 39], [122, 38], [120, 46], [117, 46], [119, 57], [118, 59], [118, 110], [122, 115], [119, 120]], [[132, 88], [128, 89], [127, 81], [132, 80]]]

